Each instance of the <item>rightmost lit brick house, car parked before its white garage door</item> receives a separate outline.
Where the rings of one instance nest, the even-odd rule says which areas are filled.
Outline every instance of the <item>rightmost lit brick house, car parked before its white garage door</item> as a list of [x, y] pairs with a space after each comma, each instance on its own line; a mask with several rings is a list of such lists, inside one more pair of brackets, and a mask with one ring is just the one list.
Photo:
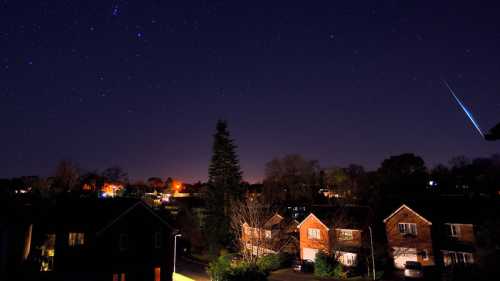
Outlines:
[[474, 223], [470, 213], [463, 206], [443, 202], [419, 205], [418, 212], [401, 205], [384, 219], [394, 266], [402, 269], [407, 261], [424, 267], [474, 263]]

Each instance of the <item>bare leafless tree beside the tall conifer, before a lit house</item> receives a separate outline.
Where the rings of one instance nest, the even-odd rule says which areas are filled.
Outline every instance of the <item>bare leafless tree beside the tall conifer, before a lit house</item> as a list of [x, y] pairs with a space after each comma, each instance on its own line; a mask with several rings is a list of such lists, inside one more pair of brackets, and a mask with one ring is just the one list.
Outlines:
[[271, 214], [269, 207], [255, 199], [232, 202], [231, 206], [230, 226], [236, 246], [244, 261], [256, 263], [270, 246], [264, 230]]

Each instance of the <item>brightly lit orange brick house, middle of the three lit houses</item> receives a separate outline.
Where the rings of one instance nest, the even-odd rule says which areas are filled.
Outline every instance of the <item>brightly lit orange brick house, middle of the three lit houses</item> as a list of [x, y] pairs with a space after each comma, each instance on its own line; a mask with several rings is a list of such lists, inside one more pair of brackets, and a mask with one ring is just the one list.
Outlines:
[[363, 206], [316, 208], [297, 226], [301, 259], [314, 261], [322, 251], [345, 266], [356, 266], [366, 247], [371, 217], [370, 209]]

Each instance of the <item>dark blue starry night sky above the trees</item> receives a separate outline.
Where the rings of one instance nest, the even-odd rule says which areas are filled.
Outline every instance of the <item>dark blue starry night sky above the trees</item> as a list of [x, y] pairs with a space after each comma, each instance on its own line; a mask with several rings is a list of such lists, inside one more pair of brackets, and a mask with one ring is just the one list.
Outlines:
[[495, 2], [0, 1], [0, 177], [71, 159], [206, 180], [218, 118], [252, 182], [287, 153], [498, 153], [441, 82], [500, 121]]

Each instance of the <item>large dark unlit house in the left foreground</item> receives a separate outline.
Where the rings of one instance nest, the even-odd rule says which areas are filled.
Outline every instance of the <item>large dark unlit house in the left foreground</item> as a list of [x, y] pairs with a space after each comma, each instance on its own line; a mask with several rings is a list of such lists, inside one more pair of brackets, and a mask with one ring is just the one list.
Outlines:
[[175, 230], [140, 200], [57, 202], [35, 224], [31, 253], [51, 280], [172, 280]]

